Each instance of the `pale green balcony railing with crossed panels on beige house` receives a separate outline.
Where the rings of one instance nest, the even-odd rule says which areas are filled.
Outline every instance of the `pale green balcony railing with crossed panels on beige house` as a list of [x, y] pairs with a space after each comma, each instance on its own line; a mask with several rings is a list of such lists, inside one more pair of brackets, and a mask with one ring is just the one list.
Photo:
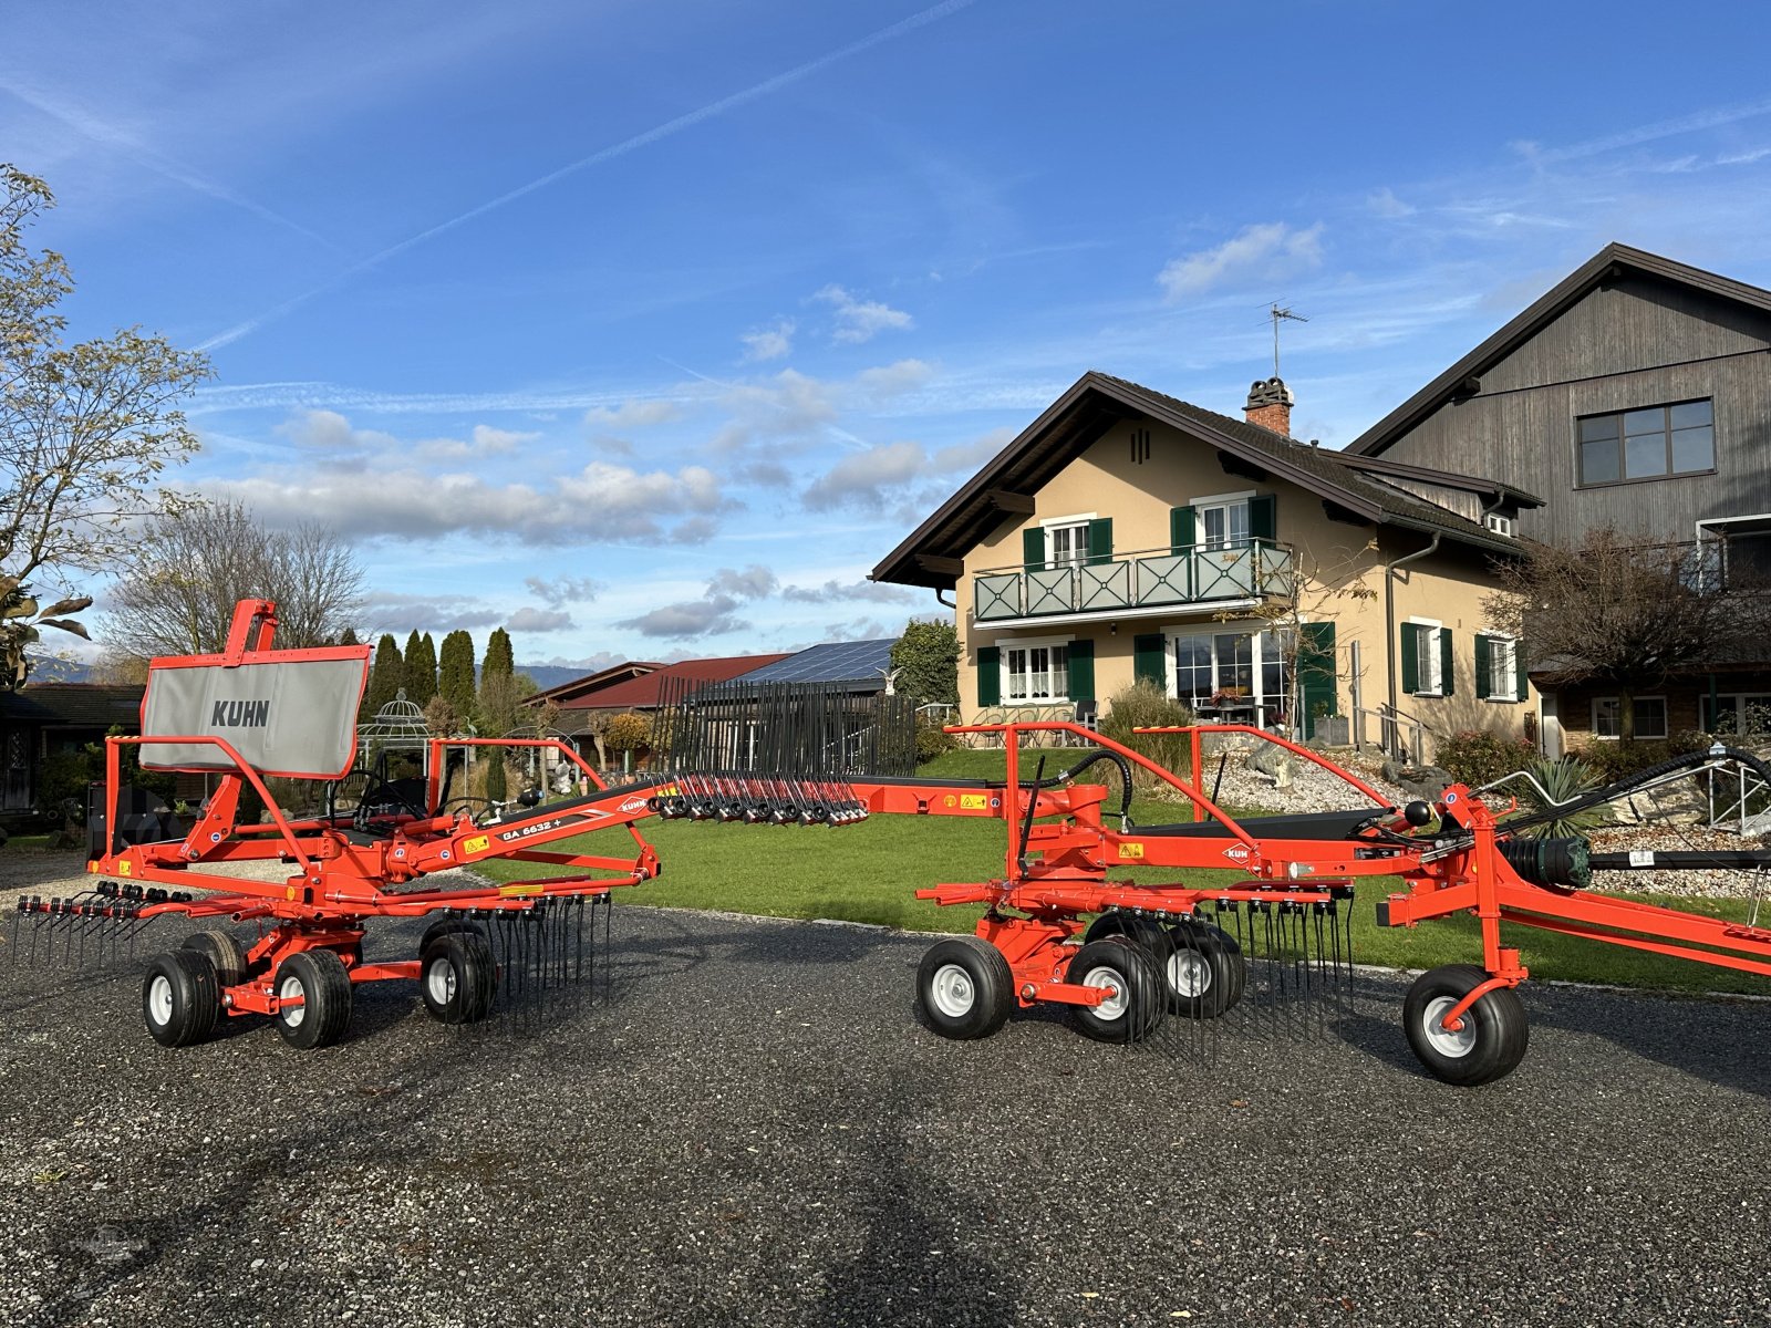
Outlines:
[[972, 579], [972, 620], [1057, 618], [1171, 604], [1291, 593], [1293, 549], [1272, 540], [1151, 549], [1105, 561], [985, 568]]

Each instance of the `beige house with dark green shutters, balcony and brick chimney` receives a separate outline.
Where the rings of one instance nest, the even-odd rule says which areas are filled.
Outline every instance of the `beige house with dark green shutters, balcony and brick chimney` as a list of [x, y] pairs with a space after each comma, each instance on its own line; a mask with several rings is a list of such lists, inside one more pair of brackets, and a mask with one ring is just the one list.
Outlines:
[[871, 577], [953, 604], [967, 721], [1087, 719], [1149, 678], [1305, 738], [1535, 731], [1484, 598], [1539, 499], [1298, 443], [1289, 416], [1277, 377], [1234, 420], [1084, 374]]

